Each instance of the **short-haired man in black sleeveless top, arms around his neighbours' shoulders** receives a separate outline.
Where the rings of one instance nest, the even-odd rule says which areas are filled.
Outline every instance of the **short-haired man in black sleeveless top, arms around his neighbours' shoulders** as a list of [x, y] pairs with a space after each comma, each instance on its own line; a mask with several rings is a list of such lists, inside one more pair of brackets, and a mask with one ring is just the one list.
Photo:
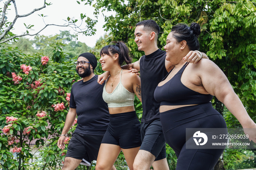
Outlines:
[[[135, 42], [139, 51], [144, 51], [139, 61], [130, 65], [122, 66], [123, 69], [131, 69], [130, 72], [140, 71], [142, 89], [142, 123], [141, 136], [142, 145], [133, 163], [133, 170], [148, 170], [151, 165], [154, 170], [169, 170], [166, 160], [165, 139], [160, 122], [160, 104], [154, 99], [154, 90], [158, 83], [174, 67], [172, 63], [165, 60], [166, 52], [158, 49], [157, 38], [160, 28], [154, 20], [144, 20], [136, 24]], [[208, 58], [206, 54], [190, 51], [184, 57], [184, 62], [197, 62], [202, 57]], [[99, 84], [108, 77], [103, 73], [98, 77]], [[174, 136], [175, 138], [175, 136]]]

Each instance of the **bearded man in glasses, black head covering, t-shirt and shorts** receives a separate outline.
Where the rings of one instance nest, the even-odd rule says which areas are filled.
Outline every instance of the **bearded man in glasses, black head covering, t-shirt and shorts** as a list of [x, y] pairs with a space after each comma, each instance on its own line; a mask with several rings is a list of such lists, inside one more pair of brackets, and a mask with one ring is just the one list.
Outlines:
[[[97, 159], [101, 140], [109, 124], [108, 105], [102, 98], [103, 85], [97, 83], [98, 76], [94, 74], [96, 57], [83, 53], [75, 65], [83, 81], [72, 85], [69, 111], [57, 143], [60, 149], [65, 148], [64, 140], [76, 115], [78, 125], [69, 142], [62, 170], [74, 170], [82, 161], [83, 165], [90, 166], [91, 161]], [[112, 170], [116, 170], [114, 166]]]

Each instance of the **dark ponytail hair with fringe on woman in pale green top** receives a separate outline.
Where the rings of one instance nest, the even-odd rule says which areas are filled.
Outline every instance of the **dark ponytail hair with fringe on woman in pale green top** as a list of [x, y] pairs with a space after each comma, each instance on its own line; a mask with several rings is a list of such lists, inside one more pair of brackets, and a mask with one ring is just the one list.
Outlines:
[[117, 53], [119, 55], [118, 63], [120, 65], [122, 65], [123, 62], [125, 62], [126, 64], [131, 64], [132, 58], [129, 55], [129, 49], [125, 45], [125, 43], [122, 41], [118, 41], [118, 42], [113, 41], [111, 43], [114, 43], [114, 44], [107, 45], [107, 46], [103, 47], [99, 54], [100, 55], [102, 55], [102, 54], [110, 55], [110, 53], [111, 53], [113, 55], [113, 54]]

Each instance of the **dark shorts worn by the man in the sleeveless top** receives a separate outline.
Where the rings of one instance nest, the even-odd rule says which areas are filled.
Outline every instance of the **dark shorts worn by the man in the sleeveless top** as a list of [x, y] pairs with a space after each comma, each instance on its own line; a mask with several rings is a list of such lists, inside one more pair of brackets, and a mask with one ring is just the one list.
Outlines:
[[140, 133], [142, 136], [140, 150], [153, 154], [155, 161], [166, 158], [165, 137], [160, 119], [151, 123], [141, 123]]

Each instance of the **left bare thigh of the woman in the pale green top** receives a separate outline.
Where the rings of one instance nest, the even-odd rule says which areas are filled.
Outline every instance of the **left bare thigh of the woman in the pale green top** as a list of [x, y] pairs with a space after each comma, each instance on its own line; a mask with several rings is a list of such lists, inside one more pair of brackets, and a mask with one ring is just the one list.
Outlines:
[[[97, 169], [111, 169], [121, 151], [120, 146], [114, 144], [102, 143], [99, 148], [99, 154], [97, 158]], [[100, 168], [101, 167], [101, 168]]]

